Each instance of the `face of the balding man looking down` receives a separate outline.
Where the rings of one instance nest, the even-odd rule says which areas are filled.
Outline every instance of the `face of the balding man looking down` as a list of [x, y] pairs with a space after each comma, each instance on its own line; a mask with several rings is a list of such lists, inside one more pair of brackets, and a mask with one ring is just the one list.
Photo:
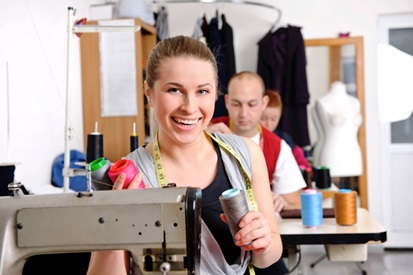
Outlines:
[[235, 134], [252, 137], [258, 133], [262, 112], [268, 104], [258, 79], [249, 76], [233, 79], [228, 86], [225, 104]]

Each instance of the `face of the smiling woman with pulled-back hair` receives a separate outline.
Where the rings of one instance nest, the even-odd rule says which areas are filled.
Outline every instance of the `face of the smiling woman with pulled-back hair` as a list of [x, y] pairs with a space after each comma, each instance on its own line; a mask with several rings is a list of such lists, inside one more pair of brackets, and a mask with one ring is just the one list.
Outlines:
[[153, 88], [145, 87], [160, 133], [177, 143], [194, 141], [212, 118], [216, 87], [211, 63], [196, 58], [164, 59]]

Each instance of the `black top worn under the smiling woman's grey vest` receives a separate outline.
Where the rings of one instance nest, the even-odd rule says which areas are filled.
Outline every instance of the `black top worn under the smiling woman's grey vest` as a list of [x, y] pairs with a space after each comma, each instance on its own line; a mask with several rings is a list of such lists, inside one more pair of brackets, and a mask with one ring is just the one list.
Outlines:
[[219, 217], [224, 212], [219, 202], [219, 196], [225, 190], [231, 189], [232, 186], [222, 162], [219, 145], [215, 141], [213, 143], [218, 155], [218, 170], [212, 183], [202, 190], [201, 216], [219, 244], [227, 263], [234, 264], [241, 253], [241, 249], [234, 244], [228, 225]]

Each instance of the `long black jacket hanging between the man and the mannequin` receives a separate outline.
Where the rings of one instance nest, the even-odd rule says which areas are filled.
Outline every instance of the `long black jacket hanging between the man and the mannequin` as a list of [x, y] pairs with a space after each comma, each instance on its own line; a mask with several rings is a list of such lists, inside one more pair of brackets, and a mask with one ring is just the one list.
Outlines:
[[257, 73], [267, 89], [280, 92], [283, 102], [277, 129], [290, 134], [302, 147], [310, 145], [306, 63], [301, 27], [279, 28], [274, 33], [268, 32], [258, 42]]

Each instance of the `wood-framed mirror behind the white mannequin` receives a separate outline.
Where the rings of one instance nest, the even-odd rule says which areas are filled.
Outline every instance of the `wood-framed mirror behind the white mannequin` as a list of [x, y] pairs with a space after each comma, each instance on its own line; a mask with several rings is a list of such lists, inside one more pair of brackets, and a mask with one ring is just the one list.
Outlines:
[[310, 92], [310, 104], [307, 108], [308, 126], [312, 145], [323, 138], [319, 134], [320, 126], [316, 125], [313, 118], [315, 102], [330, 91], [332, 83], [343, 82], [347, 93], [355, 96], [360, 102], [362, 122], [358, 130], [358, 143], [361, 150], [362, 173], [347, 180], [356, 181], [355, 189], [360, 196], [360, 207], [367, 209], [363, 37], [307, 39], [305, 46]]

